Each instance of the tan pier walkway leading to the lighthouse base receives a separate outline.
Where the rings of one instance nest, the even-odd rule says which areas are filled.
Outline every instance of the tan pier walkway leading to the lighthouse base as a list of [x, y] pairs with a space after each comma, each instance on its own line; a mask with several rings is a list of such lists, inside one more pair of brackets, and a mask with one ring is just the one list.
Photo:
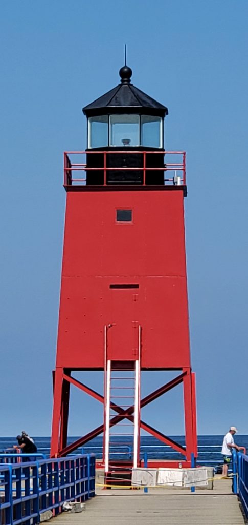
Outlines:
[[97, 489], [97, 496], [86, 502], [86, 510], [52, 520], [58, 525], [244, 525], [231, 480], [215, 480], [213, 490], [149, 488]]

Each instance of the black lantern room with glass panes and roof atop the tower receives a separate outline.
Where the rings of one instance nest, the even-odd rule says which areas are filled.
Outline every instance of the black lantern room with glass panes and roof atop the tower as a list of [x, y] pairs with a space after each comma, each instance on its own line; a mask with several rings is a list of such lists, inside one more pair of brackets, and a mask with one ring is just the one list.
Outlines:
[[[128, 66], [119, 74], [118, 86], [83, 108], [88, 126], [87, 168], [91, 168], [87, 184], [104, 183], [104, 166], [108, 168], [107, 184], [164, 184], [164, 118], [168, 110], [133, 86]], [[94, 154], [96, 151], [99, 153]], [[161, 155], [152, 154], [160, 151]], [[152, 170], [157, 167], [160, 170]]]

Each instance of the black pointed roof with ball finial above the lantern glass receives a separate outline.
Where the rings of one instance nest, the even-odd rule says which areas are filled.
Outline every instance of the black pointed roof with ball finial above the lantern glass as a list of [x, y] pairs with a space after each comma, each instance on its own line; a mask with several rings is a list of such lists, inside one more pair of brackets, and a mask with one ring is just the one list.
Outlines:
[[86, 117], [108, 113], [141, 113], [165, 117], [168, 110], [163, 104], [146, 95], [130, 82], [132, 70], [128, 66], [120, 69], [121, 82], [105, 95], [83, 108]]

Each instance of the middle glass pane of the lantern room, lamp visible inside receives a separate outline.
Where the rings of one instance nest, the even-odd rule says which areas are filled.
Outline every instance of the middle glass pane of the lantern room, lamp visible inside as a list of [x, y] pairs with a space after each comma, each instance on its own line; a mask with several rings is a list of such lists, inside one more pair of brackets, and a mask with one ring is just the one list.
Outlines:
[[139, 115], [110, 115], [110, 146], [139, 146]]

